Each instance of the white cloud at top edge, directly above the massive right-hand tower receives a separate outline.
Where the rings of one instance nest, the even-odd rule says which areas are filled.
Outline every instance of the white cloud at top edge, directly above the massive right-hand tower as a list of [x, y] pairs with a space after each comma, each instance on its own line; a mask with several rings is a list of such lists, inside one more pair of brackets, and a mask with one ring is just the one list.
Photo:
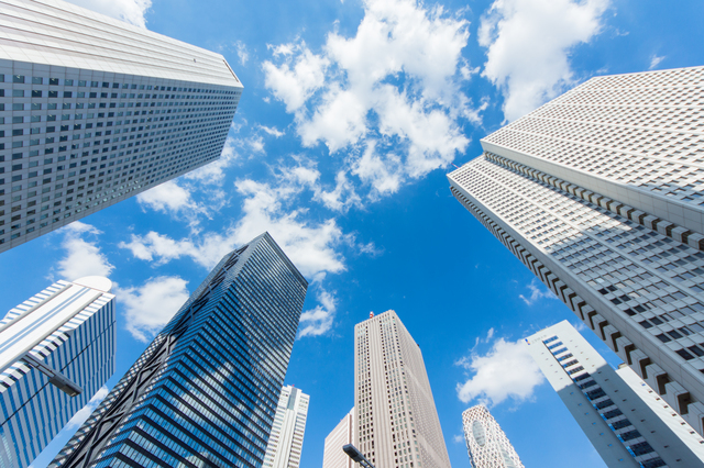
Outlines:
[[488, 47], [483, 76], [501, 88], [504, 115], [516, 120], [573, 82], [569, 55], [602, 30], [609, 0], [496, 0], [482, 19]]

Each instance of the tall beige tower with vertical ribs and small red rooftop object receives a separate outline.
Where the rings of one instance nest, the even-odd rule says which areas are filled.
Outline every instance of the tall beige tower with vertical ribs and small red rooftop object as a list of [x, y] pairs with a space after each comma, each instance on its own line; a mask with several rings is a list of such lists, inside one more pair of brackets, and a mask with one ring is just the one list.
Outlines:
[[420, 347], [394, 311], [354, 326], [355, 446], [385, 468], [449, 468]]

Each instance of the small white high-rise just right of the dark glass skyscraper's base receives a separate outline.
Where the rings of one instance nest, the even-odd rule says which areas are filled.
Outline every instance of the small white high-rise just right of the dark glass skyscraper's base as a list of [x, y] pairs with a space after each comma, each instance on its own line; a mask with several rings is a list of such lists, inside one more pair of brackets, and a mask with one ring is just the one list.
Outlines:
[[298, 468], [300, 466], [309, 402], [310, 397], [296, 387], [286, 386], [282, 389], [264, 455], [264, 468]]

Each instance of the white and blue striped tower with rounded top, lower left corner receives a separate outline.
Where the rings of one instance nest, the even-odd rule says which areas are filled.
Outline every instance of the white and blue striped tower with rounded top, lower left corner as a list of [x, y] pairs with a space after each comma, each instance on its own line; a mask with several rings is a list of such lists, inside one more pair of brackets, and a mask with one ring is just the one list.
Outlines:
[[0, 321], [0, 466], [26, 468], [114, 372], [114, 296], [56, 281]]

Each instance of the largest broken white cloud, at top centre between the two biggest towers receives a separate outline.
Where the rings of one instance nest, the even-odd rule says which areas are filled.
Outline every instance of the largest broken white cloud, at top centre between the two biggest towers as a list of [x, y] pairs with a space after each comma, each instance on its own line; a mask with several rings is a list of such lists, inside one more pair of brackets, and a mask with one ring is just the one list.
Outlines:
[[[304, 146], [344, 153], [345, 179], [320, 197], [349, 207], [351, 176], [370, 197], [448, 166], [469, 144], [462, 125], [480, 122], [460, 86], [472, 71], [461, 56], [469, 22], [415, 0], [366, 0], [352, 37], [330, 32], [319, 53], [305, 42], [270, 46], [265, 85], [294, 114]], [[485, 105], [485, 104], [483, 104]], [[389, 154], [395, 148], [394, 154]]]

